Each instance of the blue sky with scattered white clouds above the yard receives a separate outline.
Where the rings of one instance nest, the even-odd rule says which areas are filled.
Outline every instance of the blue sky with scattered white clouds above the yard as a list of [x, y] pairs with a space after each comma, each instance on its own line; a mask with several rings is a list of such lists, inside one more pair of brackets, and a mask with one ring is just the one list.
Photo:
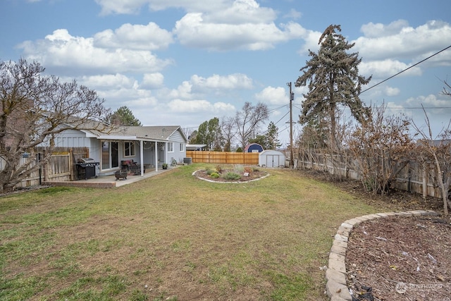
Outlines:
[[[328, 25], [356, 43], [369, 87], [451, 45], [449, 0], [1, 0], [0, 11], [2, 61], [39, 61], [96, 90], [111, 109], [128, 106], [144, 125], [190, 131], [264, 102], [284, 145], [286, 83]], [[443, 80], [451, 82], [451, 49], [361, 98], [420, 126], [423, 105], [436, 135], [451, 118]], [[307, 89], [293, 91], [297, 121]]]

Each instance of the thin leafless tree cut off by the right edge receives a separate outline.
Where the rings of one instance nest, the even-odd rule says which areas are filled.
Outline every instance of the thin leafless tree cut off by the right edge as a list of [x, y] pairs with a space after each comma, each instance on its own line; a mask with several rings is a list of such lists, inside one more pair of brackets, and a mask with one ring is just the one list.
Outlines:
[[[445, 82], [447, 85], [447, 82]], [[450, 85], [447, 85], [450, 87]], [[451, 93], [444, 88], [443, 94], [450, 95]], [[443, 199], [443, 213], [445, 216], [448, 215], [448, 207], [451, 209], [450, 201], [450, 185], [451, 185], [451, 130], [450, 123], [448, 123], [447, 128], [443, 128], [440, 133], [433, 138], [431, 123], [428, 118], [428, 114], [424, 110], [424, 115], [426, 116], [426, 127], [427, 133], [421, 130], [413, 121], [415, 130], [421, 135], [422, 139], [419, 144], [419, 151], [422, 151], [423, 156], [419, 159], [423, 161], [424, 164], [433, 162], [435, 165], [435, 185], [440, 187]]]

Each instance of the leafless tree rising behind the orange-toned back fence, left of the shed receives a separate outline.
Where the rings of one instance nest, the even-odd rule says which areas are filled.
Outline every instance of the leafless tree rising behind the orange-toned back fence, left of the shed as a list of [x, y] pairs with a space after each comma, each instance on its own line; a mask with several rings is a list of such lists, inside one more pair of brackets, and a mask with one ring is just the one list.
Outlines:
[[260, 123], [268, 119], [268, 106], [259, 102], [253, 106], [250, 102], [245, 102], [241, 111], [235, 115], [235, 125], [237, 135], [240, 137], [241, 147], [244, 149], [249, 139], [256, 136]]

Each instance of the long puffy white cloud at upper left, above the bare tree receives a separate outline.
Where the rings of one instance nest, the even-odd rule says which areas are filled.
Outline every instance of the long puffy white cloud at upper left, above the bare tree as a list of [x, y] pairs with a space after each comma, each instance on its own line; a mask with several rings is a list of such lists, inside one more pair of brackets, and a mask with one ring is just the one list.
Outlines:
[[71, 74], [159, 71], [172, 63], [161, 60], [150, 51], [101, 49], [93, 38], [73, 37], [68, 30], [55, 30], [45, 39], [20, 44], [23, 56], [42, 63], [46, 68], [70, 68]]

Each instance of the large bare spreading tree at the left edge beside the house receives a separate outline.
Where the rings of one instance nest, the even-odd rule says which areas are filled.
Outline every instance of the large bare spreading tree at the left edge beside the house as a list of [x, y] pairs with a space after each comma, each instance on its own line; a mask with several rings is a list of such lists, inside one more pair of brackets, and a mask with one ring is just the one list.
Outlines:
[[[61, 82], [54, 76], [44, 76], [44, 68], [36, 62], [0, 63], [0, 192], [14, 189], [49, 161], [55, 147], [55, 136], [65, 130], [98, 130], [106, 132], [99, 122], [109, 115], [104, 100], [85, 86]], [[27, 160], [25, 153], [35, 158], [35, 147], [47, 146], [46, 155], [38, 162]]]

